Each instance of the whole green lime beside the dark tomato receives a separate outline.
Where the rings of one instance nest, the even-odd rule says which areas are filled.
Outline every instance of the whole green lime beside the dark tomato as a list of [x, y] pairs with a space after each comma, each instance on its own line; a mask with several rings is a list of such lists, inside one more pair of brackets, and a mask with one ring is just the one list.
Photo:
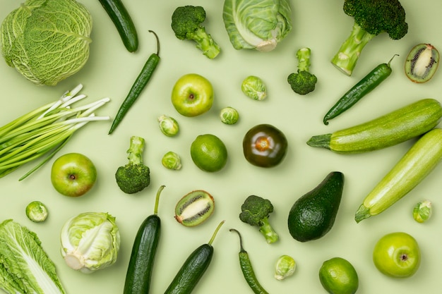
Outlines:
[[203, 171], [220, 171], [227, 163], [227, 148], [215, 135], [198, 135], [191, 145], [191, 157]]

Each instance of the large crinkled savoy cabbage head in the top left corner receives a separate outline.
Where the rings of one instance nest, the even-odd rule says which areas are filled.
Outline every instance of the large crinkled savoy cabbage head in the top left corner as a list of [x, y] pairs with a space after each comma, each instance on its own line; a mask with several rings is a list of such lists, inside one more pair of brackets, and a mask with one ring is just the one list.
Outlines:
[[1, 54], [37, 85], [56, 85], [89, 57], [92, 16], [75, 0], [26, 0], [1, 23]]

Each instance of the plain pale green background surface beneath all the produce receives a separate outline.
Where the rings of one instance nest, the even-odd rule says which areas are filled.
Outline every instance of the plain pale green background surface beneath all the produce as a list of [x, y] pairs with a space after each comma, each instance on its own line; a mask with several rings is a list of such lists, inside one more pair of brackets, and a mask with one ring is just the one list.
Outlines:
[[[0, 19], [21, 1], [1, 1]], [[210, 268], [194, 290], [195, 294], [251, 293], [238, 264], [237, 236], [229, 228], [237, 228], [244, 238], [244, 247], [251, 256], [256, 275], [269, 293], [325, 293], [318, 279], [324, 260], [343, 257], [359, 274], [359, 294], [373, 293], [438, 293], [442, 264], [441, 225], [442, 167], [438, 166], [410, 195], [386, 212], [357, 224], [354, 212], [378, 180], [402, 157], [412, 141], [367, 154], [333, 154], [325, 149], [306, 145], [312, 135], [330, 133], [355, 123], [362, 123], [399, 106], [431, 97], [441, 98], [442, 73], [417, 85], [405, 76], [403, 66], [408, 51], [418, 43], [429, 42], [442, 49], [439, 32], [442, 25], [442, 2], [438, 0], [402, 0], [407, 11], [408, 34], [399, 41], [380, 35], [362, 52], [353, 76], [347, 77], [330, 64], [340, 44], [350, 34], [352, 18], [342, 12], [343, 1], [292, 1], [294, 30], [271, 52], [236, 51], [229, 42], [222, 23], [223, 1], [137, 1], [124, 4], [138, 29], [140, 46], [135, 54], [124, 48], [114, 25], [99, 1], [81, 1], [92, 13], [92, 44], [90, 59], [76, 75], [56, 87], [38, 87], [25, 80], [13, 68], [0, 62], [1, 118], [3, 125], [37, 106], [52, 102], [78, 83], [83, 93], [95, 100], [110, 97], [112, 102], [97, 111], [114, 116], [126, 97], [133, 80], [145, 60], [156, 50], [155, 38], [160, 37], [161, 61], [148, 87], [138, 102], [112, 135], [107, 135], [111, 122], [90, 123], [74, 135], [59, 152], [80, 152], [97, 166], [97, 185], [80, 198], [59, 195], [50, 183], [50, 164], [23, 182], [18, 178], [33, 164], [23, 166], [0, 179], [1, 219], [14, 219], [35, 231], [44, 250], [54, 260], [61, 282], [70, 294], [122, 293], [126, 269], [136, 231], [141, 222], [153, 213], [155, 193], [166, 185], [160, 200], [162, 236], [157, 251], [151, 293], [163, 293], [184, 259], [196, 247], [207, 243], [222, 219], [226, 223], [213, 243], [215, 255]], [[207, 12], [208, 32], [222, 47], [216, 59], [201, 54], [192, 42], [174, 37], [170, 16], [177, 5], [202, 5]], [[311, 27], [309, 27], [309, 25]], [[310, 47], [311, 71], [318, 77], [315, 92], [301, 97], [294, 94], [286, 82], [296, 70], [295, 53], [299, 47]], [[323, 115], [336, 100], [379, 63], [390, 60], [393, 74], [356, 106], [325, 126]], [[439, 69], [439, 71], [442, 71]], [[186, 118], [177, 114], [170, 102], [174, 82], [186, 73], [198, 73], [213, 83], [215, 103], [203, 116]], [[268, 86], [268, 98], [253, 101], [241, 92], [241, 81], [248, 75], [258, 75]], [[239, 111], [236, 125], [221, 123], [220, 109], [233, 106]], [[160, 132], [157, 117], [167, 114], [179, 121], [177, 137]], [[261, 169], [249, 164], [242, 155], [241, 141], [249, 128], [258, 123], [271, 123], [280, 128], [289, 140], [285, 161], [274, 169]], [[227, 146], [229, 160], [219, 173], [205, 173], [194, 166], [189, 148], [197, 135], [213, 133]], [[125, 195], [114, 181], [114, 171], [126, 162], [129, 137], [145, 137], [145, 163], [150, 166], [150, 187], [138, 195]], [[172, 150], [182, 159], [180, 171], [165, 169], [162, 155]], [[287, 215], [293, 202], [314, 188], [330, 171], [345, 174], [345, 188], [335, 226], [320, 240], [299, 243], [287, 229]], [[215, 197], [215, 213], [201, 226], [186, 228], [174, 220], [174, 206], [191, 190], [203, 189]], [[270, 199], [275, 213], [270, 223], [280, 233], [280, 241], [268, 245], [261, 233], [241, 223], [239, 207], [251, 195]], [[434, 215], [427, 223], [412, 218], [414, 204], [429, 199]], [[47, 204], [49, 217], [44, 223], [32, 223], [25, 216], [25, 207], [32, 200]], [[117, 218], [121, 231], [121, 251], [117, 263], [108, 269], [85, 275], [69, 269], [60, 254], [59, 232], [64, 222], [81, 212], [109, 212]], [[371, 261], [374, 244], [385, 233], [405, 231], [417, 239], [422, 248], [421, 268], [405, 280], [395, 280], [380, 274]], [[287, 254], [297, 261], [294, 276], [285, 281], [273, 277], [277, 258]]]

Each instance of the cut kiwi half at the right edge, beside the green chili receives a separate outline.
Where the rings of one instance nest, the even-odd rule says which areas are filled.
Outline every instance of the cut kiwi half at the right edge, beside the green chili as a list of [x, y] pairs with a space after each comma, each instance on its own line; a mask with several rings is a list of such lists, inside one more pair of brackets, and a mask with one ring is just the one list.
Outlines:
[[439, 52], [431, 44], [417, 44], [405, 60], [405, 74], [412, 82], [428, 82], [439, 65]]

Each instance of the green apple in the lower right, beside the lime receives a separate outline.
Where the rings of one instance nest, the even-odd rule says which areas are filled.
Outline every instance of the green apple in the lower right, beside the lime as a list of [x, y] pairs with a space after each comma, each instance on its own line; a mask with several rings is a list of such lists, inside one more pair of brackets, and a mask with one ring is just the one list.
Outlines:
[[416, 239], [407, 233], [384, 235], [373, 250], [376, 268], [386, 276], [407, 278], [416, 273], [421, 262], [421, 252]]

